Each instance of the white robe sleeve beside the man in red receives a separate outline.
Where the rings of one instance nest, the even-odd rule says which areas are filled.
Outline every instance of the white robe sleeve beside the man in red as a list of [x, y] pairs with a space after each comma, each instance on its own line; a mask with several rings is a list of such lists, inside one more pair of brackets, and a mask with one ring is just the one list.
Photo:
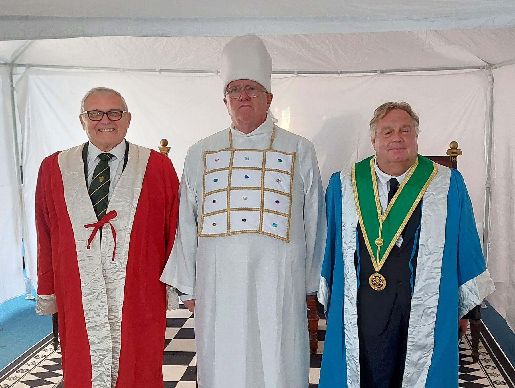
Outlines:
[[174, 246], [160, 280], [182, 293], [195, 295], [197, 262], [197, 179], [200, 155], [188, 150], [179, 186], [179, 217]]

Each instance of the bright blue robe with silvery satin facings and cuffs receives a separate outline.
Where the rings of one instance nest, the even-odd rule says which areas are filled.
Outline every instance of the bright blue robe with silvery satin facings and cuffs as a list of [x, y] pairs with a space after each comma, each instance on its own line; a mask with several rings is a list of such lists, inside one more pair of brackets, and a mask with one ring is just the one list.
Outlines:
[[[318, 298], [325, 307], [327, 331], [318, 386], [359, 388], [354, 267], [358, 221], [350, 174], [332, 175], [325, 201], [328, 235]], [[494, 286], [472, 203], [455, 169], [438, 166], [422, 198], [416, 271], [402, 386], [457, 387], [458, 320]]]

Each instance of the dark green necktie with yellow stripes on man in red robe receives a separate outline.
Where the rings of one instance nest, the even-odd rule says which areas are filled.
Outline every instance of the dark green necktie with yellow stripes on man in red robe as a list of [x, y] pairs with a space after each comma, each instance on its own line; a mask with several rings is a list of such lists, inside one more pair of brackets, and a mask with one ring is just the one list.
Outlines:
[[100, 162], [98, 162], [95, 167], [89, 188], [91, 203], [93, 204], [93, 209], [95, 210], [98, 221], [106, 215], [109, 198], [109, 183], [111, 181], [109, 161], [113, 156], [112, 153], [101, 153], [98, 155]]

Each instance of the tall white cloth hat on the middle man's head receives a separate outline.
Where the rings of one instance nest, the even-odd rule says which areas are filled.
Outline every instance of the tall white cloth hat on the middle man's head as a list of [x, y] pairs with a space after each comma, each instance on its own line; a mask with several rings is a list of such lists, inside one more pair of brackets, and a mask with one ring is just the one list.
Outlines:
[[227, 85], [238, 79], [250, 79], [263, 85], [270, 93], [272, 59], [263, 41], [255, 35], [236, 37], [222, 50], [220, 75]]

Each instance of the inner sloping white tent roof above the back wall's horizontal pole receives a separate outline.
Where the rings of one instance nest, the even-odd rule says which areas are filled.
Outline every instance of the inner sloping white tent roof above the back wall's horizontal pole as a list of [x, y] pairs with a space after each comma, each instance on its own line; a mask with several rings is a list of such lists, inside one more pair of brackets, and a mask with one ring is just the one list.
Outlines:
[[[89, 37], [0, 42], [0, 62], [217, 70], [230, 37]], [[515, 28], [264, 36], [274, 70], [484, 66], [515, 58]]]

